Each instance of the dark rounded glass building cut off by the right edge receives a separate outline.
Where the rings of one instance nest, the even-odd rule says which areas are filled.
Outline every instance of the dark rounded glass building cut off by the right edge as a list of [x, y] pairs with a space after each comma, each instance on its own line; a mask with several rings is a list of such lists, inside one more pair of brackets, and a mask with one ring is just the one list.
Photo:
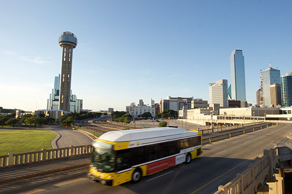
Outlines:
[[292, 72], [281, 77], [281, 96], [283, 107], [292, 106]]

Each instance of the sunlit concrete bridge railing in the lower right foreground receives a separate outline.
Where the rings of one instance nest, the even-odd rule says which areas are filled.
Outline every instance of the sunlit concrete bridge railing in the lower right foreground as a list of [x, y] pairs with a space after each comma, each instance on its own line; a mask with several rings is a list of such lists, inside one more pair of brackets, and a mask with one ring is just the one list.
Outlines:
[[278, 162], [277, 147], [265, 149], [263, 156], [257, 158], [256, 162], [250, 164], [243, 172], [237, 173], [236, 178], [226, 185], [220, 185], [215, 194], [254, 194], [273, 177]]

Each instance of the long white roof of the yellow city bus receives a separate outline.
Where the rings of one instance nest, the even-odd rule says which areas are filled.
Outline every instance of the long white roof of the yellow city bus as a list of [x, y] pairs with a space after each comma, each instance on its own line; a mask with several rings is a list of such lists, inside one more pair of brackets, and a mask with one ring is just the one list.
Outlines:
[[175, 135], [198, 135], [198, 132], [183, 128], [147, 128], [110, 131], [102, 134], [98, 139], [110, 142], [128, 142], [142, 139], [151, 139]]

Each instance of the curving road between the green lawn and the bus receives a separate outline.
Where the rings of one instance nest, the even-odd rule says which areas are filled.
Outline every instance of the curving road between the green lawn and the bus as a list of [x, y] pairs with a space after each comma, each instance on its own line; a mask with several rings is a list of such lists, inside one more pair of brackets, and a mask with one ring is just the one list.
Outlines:
[[92, 143], [92, 139], [88, 135], [77, 130], [55, 126], [48, 129], [57, 134], [55, 139], [52, 141], [53, 149], [60, 147], [90, 145]]

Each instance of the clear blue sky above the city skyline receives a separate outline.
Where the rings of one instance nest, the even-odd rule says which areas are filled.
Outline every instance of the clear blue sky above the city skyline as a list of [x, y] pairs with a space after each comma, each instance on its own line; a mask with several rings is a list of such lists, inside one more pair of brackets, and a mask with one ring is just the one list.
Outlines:
[[260, 69], [292, 71], [291, 0], [0, 0], [0, 106], [46, 109], [61, 71], [58, 36], [73, 32], [71, 89], [83, 109], [125, 111], [143, 99], [209, 100], [245, 57], [247, 101]]

